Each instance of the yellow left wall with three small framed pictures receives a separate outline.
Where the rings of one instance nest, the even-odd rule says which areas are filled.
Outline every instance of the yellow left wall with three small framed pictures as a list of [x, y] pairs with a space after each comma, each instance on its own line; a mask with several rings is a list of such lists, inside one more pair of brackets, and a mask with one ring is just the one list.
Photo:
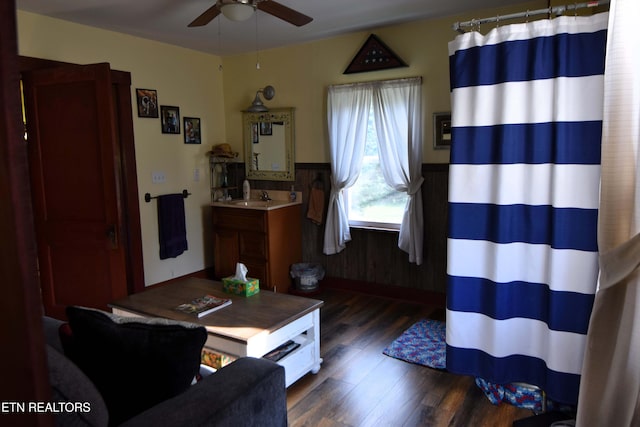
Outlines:
[[[20, 11], [18, 44], [20, 55], [77, 64], [109, 62], [112, 69], [131, 73], [145, 282], [158, 283], [210, 265], [212, 243], [205, 238], [211, 236], [206, 152], [225, 134], [220, 58]], [[182, 117], [200, 117], [202, 145], [185, 145], [182, 133], [162, 134], [159, 119], [137, 117], [135, 88], [156, 89], [159, 104], [180, 107]], [[199, 169], [197, 182], [194, 169]], [[164, 184], [152, 184], [154, 171], [165, 173]], [[189, 250], [160, 260], [156, 203], [146, 203], [144, 193], [183, 189], [192, 193], [185, 200]]]

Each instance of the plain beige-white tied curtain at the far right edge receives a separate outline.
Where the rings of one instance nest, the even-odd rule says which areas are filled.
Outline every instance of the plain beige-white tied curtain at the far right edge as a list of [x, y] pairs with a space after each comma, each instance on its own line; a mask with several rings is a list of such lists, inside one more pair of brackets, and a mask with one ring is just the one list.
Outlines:
[[604, 72], [600, 280], [577, 425], [640, 425], [640, 2], [613, 0]]

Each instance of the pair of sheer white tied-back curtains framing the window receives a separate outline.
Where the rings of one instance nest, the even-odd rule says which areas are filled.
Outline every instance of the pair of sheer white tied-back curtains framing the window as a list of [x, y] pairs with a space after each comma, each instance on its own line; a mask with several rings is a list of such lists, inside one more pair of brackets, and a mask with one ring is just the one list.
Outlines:
[[342, 251], [351, 240], [342, 192], [360, 174], [367, 117], [373, 106], [385, 181], [410, 196], [398, 247], [409, 254], [410, 262], [422, 263], [421, 84], [422, 79], [417, 77], [329, 87], [327, 122], [332, 176], [325, 254]]

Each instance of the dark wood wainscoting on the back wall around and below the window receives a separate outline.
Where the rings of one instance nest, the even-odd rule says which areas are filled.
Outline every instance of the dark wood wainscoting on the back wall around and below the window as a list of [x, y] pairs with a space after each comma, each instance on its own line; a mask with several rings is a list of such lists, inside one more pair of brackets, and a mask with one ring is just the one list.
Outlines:
[[[331, 168], [328, 163], [296, 163], [295, 189], [303, 192], [302, 258], [321, 264], [328, 277], [368, 282], [378, 285], [412, 288], [444, 293], [447, 277], [447, 199], [449, 165], [423, 164], [422, 201], [424, 212], [423, 264], [409, 263], [408, 255], [398, 249], [398, 233], [351, 229], [352, 240], [336, 255], [322, 253], [324, 224], [307, 219], [309, 193], [315, 183], [325, 190], [329, 202]], [[290, 182], [252, 181], [251, 187], [266, 190], [289, 190]], [[402, 290], [399, 290], [399, 292]]]

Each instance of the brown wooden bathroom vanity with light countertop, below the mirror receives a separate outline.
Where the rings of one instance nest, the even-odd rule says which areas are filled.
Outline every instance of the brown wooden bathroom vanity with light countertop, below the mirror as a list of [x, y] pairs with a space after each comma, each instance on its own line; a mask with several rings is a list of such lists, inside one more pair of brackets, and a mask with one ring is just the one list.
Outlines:
[[214, 202], [214, 268], [219, 279], [233, 276], [238, 262], [248, 277], [260, 280], [260, 288], [287, 293], [290, 268], [302, 261], [301, 200], [291, 202], [289, 192], [274, 200], [260, 200], [254, 190], [249, 201]]

